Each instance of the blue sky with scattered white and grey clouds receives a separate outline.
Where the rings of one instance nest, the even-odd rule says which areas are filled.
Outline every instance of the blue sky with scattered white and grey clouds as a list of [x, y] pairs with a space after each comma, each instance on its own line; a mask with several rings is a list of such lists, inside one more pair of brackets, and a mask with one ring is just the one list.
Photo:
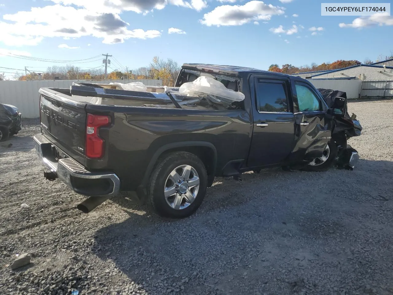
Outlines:
[[[393, 51], [393, 17], [321, 16], [316, 0], [0, 0], [0, 14], [0, 66], [13, 69], [64, 65], [15, 55], [81, 60], [109, 53], [112, 68], [129, 69], [158, 55], [267, 69], [363, 62]], [[73, 64], [99, 67], [102, 58]]]

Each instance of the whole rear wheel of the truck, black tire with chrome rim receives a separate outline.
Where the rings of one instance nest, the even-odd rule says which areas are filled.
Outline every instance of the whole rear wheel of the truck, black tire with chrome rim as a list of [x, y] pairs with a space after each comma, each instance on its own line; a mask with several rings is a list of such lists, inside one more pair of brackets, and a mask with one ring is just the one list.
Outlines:
[[152, 173], [150, 205], [162, 217], [188, 217], [202, 204], [207, 180], [205, 165], [194, 154], [167, 155]]

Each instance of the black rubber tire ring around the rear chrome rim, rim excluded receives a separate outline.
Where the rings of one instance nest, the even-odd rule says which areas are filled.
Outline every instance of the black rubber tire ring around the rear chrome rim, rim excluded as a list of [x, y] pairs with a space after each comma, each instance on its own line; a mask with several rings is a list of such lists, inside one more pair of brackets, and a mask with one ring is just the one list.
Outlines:
[[[163, 189], [169, 174], [181, 165], [190, 165], [196, 170], [199, 177], [199, 189], [195, 200], [190, 205], [183, 209], [174, 209], [167, 203]], [[148, 197], [149, 204], [152, 210], [161, 217], [171, 219], [188, 217], [202, 204], [206, 195], [207, 184], [208, 175], [205, 165], [196, 155], [183, 151], [171, 153], [160, 160], [151, 175]]]

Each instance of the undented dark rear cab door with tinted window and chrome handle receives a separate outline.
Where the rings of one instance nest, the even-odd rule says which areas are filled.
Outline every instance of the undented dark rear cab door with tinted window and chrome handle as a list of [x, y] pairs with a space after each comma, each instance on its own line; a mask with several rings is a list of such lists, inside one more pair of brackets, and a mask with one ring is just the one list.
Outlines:
[[248, 167], [283, 162], [295, 144], [290, 81], [287, 77], [253, 76], [253, 134]]

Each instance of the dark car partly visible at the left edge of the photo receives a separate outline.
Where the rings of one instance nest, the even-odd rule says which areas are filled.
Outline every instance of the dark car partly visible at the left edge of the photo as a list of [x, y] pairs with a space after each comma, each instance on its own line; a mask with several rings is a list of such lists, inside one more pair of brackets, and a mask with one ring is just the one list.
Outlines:
[[0, 103], [0, 141], [5, 141], [11, 135], [20, 131], [22, 114], [13, 105]]

